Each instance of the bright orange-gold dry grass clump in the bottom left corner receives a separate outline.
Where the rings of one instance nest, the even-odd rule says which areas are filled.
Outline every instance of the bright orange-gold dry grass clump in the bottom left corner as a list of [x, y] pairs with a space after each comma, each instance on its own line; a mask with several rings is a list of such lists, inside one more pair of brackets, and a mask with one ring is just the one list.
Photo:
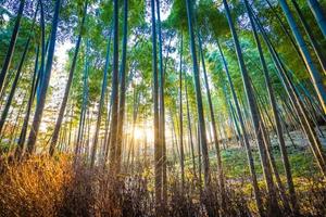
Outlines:
[[32, 157], [1, 165], [1, 216], [55, 216], [64, 203], [64, 187], [72, 181], [67, 157]]

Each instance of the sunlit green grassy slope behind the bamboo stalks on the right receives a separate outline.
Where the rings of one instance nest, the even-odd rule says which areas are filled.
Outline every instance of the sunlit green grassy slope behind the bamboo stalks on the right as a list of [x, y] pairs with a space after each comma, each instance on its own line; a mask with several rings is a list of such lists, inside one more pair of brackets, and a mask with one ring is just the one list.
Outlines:
[[[322, 144], [326, 148], [326, 126], [321, 127], [325, 138], [321, 138]], [[285, 137], [287, 151], [289, 154], [289, 161], [292, 168], [293, 177], [313, 177], [318, 174], [317, 164], [314, 161], [314, 156], [309, 148], [309, 141], [304, 135], [299, 130], [290, 132], [290, 137]], [[278, 146], [277, 136], [272, 137], [273, 156], [275, 157], [277, 168], [280, 175], [284, 175], [281, 155]], [[253, 156], [255, 162], [256, 173], [262, 175], [262, 167], [259, 163], [260, 155], [256, 149], [253, 149]], [[214, 153], [211, 152], [211, 162], [214, 162]], [[247, 165], [247, 154], [242, 148], [229, 148], [222, 151], [223, 165], [226, 168], [225, 175], [227, 178], [248, 177], [250, 175]]]

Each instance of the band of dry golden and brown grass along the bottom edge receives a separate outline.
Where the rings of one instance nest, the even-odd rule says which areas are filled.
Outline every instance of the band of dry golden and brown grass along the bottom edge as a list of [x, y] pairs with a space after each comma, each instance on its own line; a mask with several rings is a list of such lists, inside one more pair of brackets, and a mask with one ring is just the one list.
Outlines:
[[[86, 163], [73, 165], [72, 157], [34, 156], [21, 163], [0, 162], [0, 216], [155, 216], [153, 183], [146, 169], [112, 179], [103, 168]], [[178, 176], [170, 170], [165, 216], [252, 216], [251, 193], [228, 186], [225, 204], [217, 188], [199, 193], [198, 183], [187, 179], [181, 191]], [[298, 192], [304, 216], [326, 213], [326, 188], [322, 180], [305, 180]], [[248, 184], [248, 183], [243, 183]], [[213, 179], [212, 186], [216, 187]], [[284, 215], [289, 215], [284, 213]]]

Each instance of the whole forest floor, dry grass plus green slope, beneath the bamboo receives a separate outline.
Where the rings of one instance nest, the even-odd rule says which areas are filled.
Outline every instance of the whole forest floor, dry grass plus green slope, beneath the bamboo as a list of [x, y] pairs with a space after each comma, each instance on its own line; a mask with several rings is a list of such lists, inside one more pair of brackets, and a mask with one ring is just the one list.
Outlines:
[[[326, 127], [323, 128], [324, 131]], [[321, 177], [306, 141], [292, 131], [294, 146], [288, 142], [289, 159], [300, 210], [303, 216], [325, 216], [326, 181]], [[281, 156], [273, 149], [284, 183]], [[256, 174], [264, 194], [259, 153], [253, 149]], [[216, 156], [210, 152], [213, 186], [216, 184]], [[242, 148], [222, 150], [228, 204], [224, 216], [255, 215], [247, 155]], [[102, 167], [73, 163], [71, 155], [49, 158], [38, 155], [22, 163], [0, 162], [0, 216], [154, 216], [153, 170], [135, 166], [116, 179]], [[206, 216], [191, 159], [186, 162], [186, 191], [180, 190], [177, 165], [168, 166], [168, 216]], [[185, 193], [186, 192], [186, 193]], [[217, 192], [213, 192], [216, 193]], [[265, 194], [264, 194], [265, 195]], [[215, 202], [217, 201], [214, 199]], [[213, 201], [214, 201], [213, 200]], [[216, 202], [217, 203], [217, 202]], [[284, 213], [284, 216], [287, 216]]]

